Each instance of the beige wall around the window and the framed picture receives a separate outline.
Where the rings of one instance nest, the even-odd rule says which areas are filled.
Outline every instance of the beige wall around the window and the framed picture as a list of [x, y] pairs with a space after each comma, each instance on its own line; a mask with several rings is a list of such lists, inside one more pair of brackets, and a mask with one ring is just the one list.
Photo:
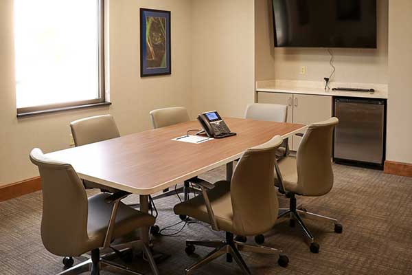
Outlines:
[[[12, 0], [0, 1], [0, 186], [38, 175], [30, 149], [69, 146], [69, 122], [112, 113], [122, 135], [150, 128], [148, 112], [192, 106], [192, 1], [110, 0], [109, 108], [67, 111], [16, 119]], [[172, 76], [140, 78], [139, 8], [172, 12]]]

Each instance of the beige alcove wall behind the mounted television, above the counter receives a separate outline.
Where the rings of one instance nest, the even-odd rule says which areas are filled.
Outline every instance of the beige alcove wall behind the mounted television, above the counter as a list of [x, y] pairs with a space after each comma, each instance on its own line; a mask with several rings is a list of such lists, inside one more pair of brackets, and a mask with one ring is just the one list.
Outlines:
[[[256, 6], [260, 7], [270, 0], [255, 0]], [[388, 1], [378, 0], [378, 49], [332, 49], [334, 53], [334, 65], [336, 74], [332, 80], [343, 83], [388, 83]], [[270, 3], [269, 3], [270, 5]], [[266, 30], [257, 36], [257, 41], [264, 45], [273, 45], [273, 30], [267, 28], [267, 21], [272, 23], [271, 11], [262, 10], [256, 17], [256, 28]], [[267, 33], [269, 32], [269, 33]], [[263, 46], [262, 46], [263, 47]], [[330, 55], [326, 49], [320, 48], [275, 48], [274, 53], [265, 50], [257, 61], [257, 80], [268, 79], [266, 60], [272, 60], [276, 79], [290, 80], [317, 80], [330, 76], [332, 68], [329, 65]], [[300, 67], [306, 66], [306, 74], [299, 74]]]

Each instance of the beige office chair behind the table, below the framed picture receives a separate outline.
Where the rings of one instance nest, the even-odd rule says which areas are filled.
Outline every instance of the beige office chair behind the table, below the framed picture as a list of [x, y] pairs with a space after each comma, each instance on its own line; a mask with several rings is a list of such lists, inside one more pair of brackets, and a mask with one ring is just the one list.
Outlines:
[[[152, 121], [152, 128], [158, 129], [165, 126], [170, 126], [174, 124], [178, 124], [181, 122], [187, 122], [190, 120], [189, 114], [187, 113], [187, 109], [185, 107], [170, 107], [170, 108], [163, 108], [163, 109], [156, 109], [150, 111], [150, 120]], [[189, 129], [188, 129], [189, 130]], [[163, 194], [157, 195], [152, 199], [162, 199], [165, 197], [175, 196], [177, 194], [184, 194], [183, 200], [187, 201], [189, 198], [190, 192], [198, 192], [197, 189], [192, 189], [190, 187], [190, 182], [185, 181], [183, 183], [183, 187], [176, 188], [176, 190], [163, 190]], [[181, 215], [180, 218], [184, 221], [186, 216]]]

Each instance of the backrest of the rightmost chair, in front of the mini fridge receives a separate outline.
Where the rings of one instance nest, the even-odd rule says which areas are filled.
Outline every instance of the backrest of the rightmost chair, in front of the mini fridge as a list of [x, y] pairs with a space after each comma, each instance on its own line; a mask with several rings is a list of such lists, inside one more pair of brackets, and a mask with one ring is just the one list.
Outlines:
[[337, 118], [310, 124], [297, 150], [297, 184], [306, 196], [321, 196], [333, 186], [332, 135]]

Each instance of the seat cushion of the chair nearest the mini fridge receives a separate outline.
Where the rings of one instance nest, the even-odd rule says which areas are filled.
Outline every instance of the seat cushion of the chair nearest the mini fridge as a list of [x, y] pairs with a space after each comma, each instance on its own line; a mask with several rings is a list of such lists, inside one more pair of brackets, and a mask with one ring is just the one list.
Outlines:
[[[297, 166], [296, 157], [282, 157], [277, 161], [280, 173], [282, 174], [283, 184], [286, 191], [301, 194], [297, 185]], [[279, 186], [279, 180], [275, 171], [275, 185]]]

